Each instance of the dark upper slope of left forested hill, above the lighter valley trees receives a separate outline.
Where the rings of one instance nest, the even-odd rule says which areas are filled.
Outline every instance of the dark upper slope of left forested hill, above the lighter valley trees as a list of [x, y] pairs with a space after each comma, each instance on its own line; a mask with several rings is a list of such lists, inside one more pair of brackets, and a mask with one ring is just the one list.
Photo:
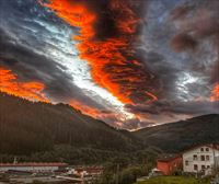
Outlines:
[[33, 103], [0, 93], [0, 153], [33, 154], [57, 146], [132, 151], [142, 145], [131, 133], [117, 130], [69, 105]]

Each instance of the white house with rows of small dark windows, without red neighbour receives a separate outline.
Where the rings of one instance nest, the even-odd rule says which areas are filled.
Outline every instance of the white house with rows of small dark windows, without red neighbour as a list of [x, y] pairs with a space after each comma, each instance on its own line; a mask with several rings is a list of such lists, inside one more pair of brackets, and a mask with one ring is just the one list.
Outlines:
[[186, 173], [204, 172], [211, 174], [219, 166], [219, 145], [203, 145], [182, 153], [183, 171]]

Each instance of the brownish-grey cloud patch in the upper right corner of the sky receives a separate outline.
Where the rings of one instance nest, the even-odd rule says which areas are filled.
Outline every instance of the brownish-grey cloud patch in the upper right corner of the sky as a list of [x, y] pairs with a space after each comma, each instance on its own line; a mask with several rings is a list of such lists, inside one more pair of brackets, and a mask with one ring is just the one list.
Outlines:
[[[176, 51], [188, 51], [199, 58], [194, 66], [199, 66], [205, 74], [208, 74], [209, 82], [219, 81], [219, 1], [199, 0], [191, 1], [187, 4], [177, 5], [172, 11], [172, 18], [177, 24], [175, 36], [171, 46]], [[183, 15], [175, 15], [182, 14]], [[207, 53], [211, 49], [211, 54]], [[208, 58], [205, 55], [208, 54]], [[208, 65], [205, 65], [205, 60]], [[194, 67], [195, 68], [195, 67]], [[210, 68], [210, 70], [209, 70]], [[197, 69], [197, 68], [196, 68]]]

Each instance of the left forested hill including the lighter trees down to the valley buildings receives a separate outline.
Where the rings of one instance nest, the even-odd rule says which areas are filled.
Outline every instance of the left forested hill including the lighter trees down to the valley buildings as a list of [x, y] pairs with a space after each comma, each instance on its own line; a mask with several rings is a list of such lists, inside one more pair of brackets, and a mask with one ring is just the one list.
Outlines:
[[2, 161], [66, 161], [103, 163], [114, 157], [141, 162], [159, 149], [142, 143], [127, 130], [81, 114], [65, 104], [30, 102], [0, 93], [0, 153]]

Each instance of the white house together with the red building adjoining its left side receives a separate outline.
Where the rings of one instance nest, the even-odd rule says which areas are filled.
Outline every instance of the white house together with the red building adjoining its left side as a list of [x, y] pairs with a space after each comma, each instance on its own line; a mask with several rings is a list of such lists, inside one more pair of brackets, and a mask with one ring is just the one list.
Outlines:
[[164, 154], [157, 160], [157, 169], [171, 175], [183, 169], [184, 173], [214, 174], [219, 169], [219, 145], [201, 145], [178, 154]]

